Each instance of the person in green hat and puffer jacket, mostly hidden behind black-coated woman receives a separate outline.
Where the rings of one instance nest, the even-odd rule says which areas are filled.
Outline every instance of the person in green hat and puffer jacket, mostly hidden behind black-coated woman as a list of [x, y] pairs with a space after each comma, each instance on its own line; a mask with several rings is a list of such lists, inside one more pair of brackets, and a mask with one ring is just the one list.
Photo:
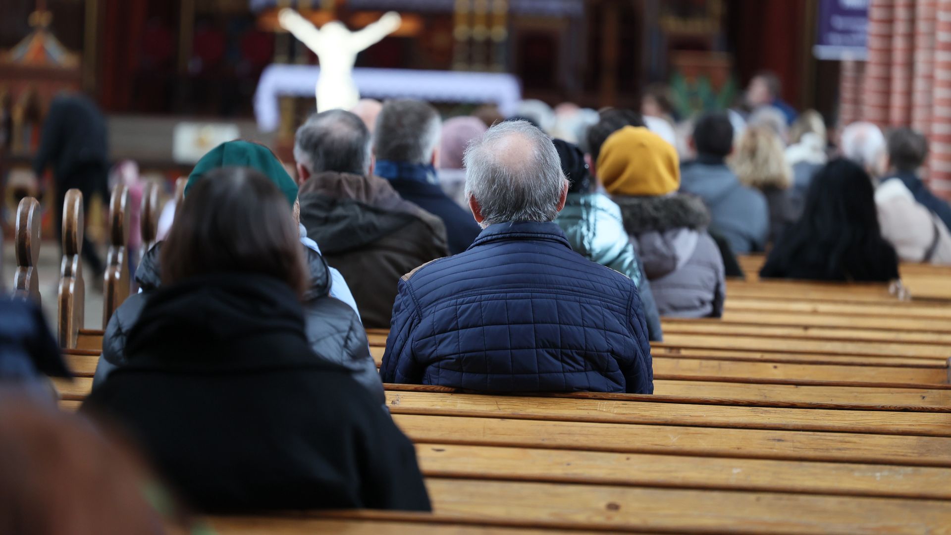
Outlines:
[[[246, 141], [229, 141], [205, 154], [188, 178], [187, 197], [191, 188], [205, 175], [224, 167], [254, 168], [281, 189], [287, 206], [296, 211], [297, 185], [284, 170], [281, 161], [270, 149]], [[377, 366], [367, 346], [366, 334], [360, 325], [357, 305], [343, 277], [334, 268], [328, 268], [320, 255], [320, 248], [299, 228], [301, 252], [307, 262], [309, 286], [303, 296], [304, 320], [311, 348], [323, 359], [351, 369], [354, 379], [366, 386], [384, 403], [383, 386], [379, 382]], [[103, 337], [103, 352], [96, 367], [93, 386], [99, 386], [116, 367], [126, 364], [126, 337], [135, 327], [143, 307], [163, 283], [159, 257], [165, 242], [149, 250], [136, 269], [135, 279], [141, 293], [130, 295], [109, 319]]]

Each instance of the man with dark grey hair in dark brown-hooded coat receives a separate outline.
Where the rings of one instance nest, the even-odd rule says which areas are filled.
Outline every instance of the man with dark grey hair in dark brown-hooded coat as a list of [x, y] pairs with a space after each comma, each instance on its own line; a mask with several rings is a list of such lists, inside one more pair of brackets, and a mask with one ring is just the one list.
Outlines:
[[363, 327], [387, 328], [399, 277], [449, 250], [437, 216], [374, 176], [370, 142], [356, 115], [333, 109], [298, 129], [294, 157], [308, 237], [349, 283]]

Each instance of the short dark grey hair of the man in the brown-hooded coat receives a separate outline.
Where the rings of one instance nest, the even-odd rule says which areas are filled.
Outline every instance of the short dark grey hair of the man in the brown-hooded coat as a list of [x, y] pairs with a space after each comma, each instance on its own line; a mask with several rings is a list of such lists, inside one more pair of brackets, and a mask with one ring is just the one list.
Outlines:
[[366, 174], [370, 130], [357, 115], [329, 109], [312, 116], [294, 136], [294, 157], [314, 174], [323, 171]]

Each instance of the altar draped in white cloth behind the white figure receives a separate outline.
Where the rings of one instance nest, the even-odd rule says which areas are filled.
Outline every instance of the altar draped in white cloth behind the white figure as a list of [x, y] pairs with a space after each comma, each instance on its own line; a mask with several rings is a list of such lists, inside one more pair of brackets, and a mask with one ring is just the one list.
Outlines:
[[[365, 98], [495, 104], [503, 115], [514, 112], [522, 95], [518, 77], [503, 72], [357, 68], [353, 77]], [[277, 129], [280, 98], [313, 97], [318, 78], [320, 67], [314, 65], [273, 64], [265, 68], [254, 95], [258, 128]]]

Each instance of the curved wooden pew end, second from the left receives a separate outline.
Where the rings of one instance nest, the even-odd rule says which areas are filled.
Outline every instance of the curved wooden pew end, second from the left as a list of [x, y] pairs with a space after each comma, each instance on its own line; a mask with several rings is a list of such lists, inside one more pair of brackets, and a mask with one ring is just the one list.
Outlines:
[[63, 204], [63, 262], [57, 294], [57, 339], [60, 347], [76, 347], [86, 318], [86, 282], [83, 280], [83, 193], [73, 188]]

